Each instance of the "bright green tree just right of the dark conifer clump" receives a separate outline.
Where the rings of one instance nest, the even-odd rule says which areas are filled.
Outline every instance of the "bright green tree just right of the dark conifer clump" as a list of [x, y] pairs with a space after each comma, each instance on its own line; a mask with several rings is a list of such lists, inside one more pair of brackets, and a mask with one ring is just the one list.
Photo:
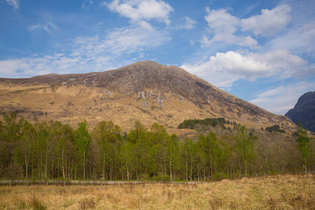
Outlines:
[[237, 130], [237, 152], [241, 157], [241, 161], [245, 167], [245, 176], [247, 176], [248, 165], [255, 159], [255, 145], [253, 143], [254, 137], [249, 137], [245, 125], [239, 127]]

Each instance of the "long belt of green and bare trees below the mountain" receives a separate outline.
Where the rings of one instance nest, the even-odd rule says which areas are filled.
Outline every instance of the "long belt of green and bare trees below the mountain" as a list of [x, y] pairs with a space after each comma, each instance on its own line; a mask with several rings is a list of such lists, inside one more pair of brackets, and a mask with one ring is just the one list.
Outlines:
[[314, 139], [302, 125], [293, 138], [241, 125], [223, 130], [221, 122], [179, 141], [157, 123], [135, 121], [127, 133], [111, 121], [73, 129], [8, 113], [0, 121], [0, 179], [214, 181], [314, 172]]

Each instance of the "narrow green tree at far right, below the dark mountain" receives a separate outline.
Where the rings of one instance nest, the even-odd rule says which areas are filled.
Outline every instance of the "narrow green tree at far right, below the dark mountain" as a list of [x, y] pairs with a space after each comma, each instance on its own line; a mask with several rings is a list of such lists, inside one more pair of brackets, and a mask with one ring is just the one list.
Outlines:
[[313, 149], [311, 148], [311, 142], [309, 142], [309, 137], [307, 137], [307, 130], [303, 130], [303, 125], [300, 122], [297, 127], [297, 149], [302, 155], [303, 167], [305, 169], [305, 174], [307, 174], [307, 167], [311, 165], [311, 158], [313, 157]]

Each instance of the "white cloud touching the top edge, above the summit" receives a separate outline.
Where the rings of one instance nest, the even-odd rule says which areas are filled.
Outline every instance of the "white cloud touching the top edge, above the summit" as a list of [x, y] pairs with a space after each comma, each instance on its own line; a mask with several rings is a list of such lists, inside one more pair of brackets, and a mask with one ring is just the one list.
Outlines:
[[104, 5], [137, 24], [145, 20], [158, 20], [169, 25], [171, 22], [169, 13], [174, 11], [168, 3], [156, 0], [125, 0], [123, 2], [113, 0], [111, 3], [105, 2]]

